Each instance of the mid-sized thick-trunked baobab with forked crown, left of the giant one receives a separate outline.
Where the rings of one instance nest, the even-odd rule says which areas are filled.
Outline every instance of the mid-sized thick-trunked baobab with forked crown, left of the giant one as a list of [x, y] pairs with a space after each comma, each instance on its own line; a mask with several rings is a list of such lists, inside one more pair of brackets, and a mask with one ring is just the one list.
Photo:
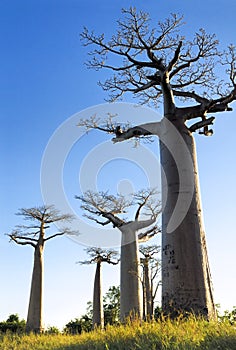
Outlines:
[[[124, 196], [109, 195], [107, 192], [87, 191], [83, 196], [76, 196], [85, 211], [84, 216], [102, 226], [112, 224], [121, 232], [120, 253], [120, 313], [121, 320], [127, 317], [142, 317], [140, 264], [137, 232], [152, 226], [156, 230], [156, 219], [159, 213], [159, 202], [156, 191], [142, 190], [132, 195], [132, 200]], [[124, 217], [129, 209], [135, 208], [134, 220]], [[141, 215], [148, 216], [140, 220]], [[141, 237], [150, 235], [150, 228], [141, 233]]]

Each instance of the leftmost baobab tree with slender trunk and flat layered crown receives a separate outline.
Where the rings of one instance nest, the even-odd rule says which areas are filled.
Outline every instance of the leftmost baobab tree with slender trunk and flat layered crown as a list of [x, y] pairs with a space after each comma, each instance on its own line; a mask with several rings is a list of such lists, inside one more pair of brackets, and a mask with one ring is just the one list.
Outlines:
[[30, 245], [34, 248], [34, 264], [26, 331], [40, 333], [43, 331], [43, 254], [45, 243], [58, 236], [75, 234], [74, 231], [64, 227], [59, 232], [46, 236], [46, 230], [53, 223], [68, 223], [73, 217], [69, 214], [61, 214], [54, 206], [47, 205], [22, 208], [16, 215], [23, 216], [24, 220], [32, 222], [28, 225], [17, 225], [8, 236], [10, 237], [10, 241], [20, 245]]

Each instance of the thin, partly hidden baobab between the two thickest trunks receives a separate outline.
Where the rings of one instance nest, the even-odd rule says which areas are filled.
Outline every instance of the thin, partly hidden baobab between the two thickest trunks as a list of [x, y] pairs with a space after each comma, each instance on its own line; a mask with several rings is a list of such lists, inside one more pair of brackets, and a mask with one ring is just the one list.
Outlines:
[[157, 280], [161, 272], [160, 258], [158, 258], [161, 247], [158, 245], [140, 246], [139, 251], [143, 270], [143, 316], [147, 319], [153, 319], [154, 301], [161, 284], [161, 281]]

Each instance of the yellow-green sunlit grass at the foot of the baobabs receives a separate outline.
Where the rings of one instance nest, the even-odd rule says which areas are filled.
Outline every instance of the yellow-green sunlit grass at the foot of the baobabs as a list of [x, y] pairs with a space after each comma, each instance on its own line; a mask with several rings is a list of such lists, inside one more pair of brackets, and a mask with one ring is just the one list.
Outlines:
[[82, 335], [0, 335], [1, 350], [236, 350], [236, 326], [229, 322], [159, 321], [110, 326]]

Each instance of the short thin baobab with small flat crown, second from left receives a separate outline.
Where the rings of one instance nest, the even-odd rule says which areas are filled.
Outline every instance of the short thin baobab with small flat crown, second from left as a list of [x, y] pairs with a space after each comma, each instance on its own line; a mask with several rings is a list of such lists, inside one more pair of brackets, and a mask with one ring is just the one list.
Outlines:
[[80, 261], [80, 264], [96, 264], [96, 273], [93, 289], [93, 328], [104, 328], [104, 311], [102, 296], [102, 263], [117, 265], [119, 262], [118, 253], [112, 249], [91, 247], [86, 249], [90, 260]]

